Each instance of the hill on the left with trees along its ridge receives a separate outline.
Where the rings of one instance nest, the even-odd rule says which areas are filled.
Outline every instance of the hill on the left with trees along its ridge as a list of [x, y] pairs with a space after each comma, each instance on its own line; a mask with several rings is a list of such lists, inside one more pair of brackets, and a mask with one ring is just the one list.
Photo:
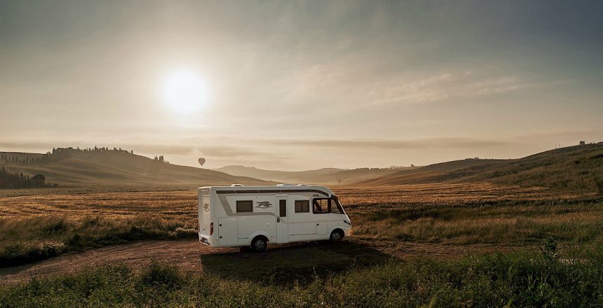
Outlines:
[[54, 153], [0, 152], [0, 165], [10, 172], [43, 174], [52, 183], [81, 185], [203, 186], [266, 185], [269, 182], [195, 167], [172, 165], [128, 151], [79, 151], [57, 149]]

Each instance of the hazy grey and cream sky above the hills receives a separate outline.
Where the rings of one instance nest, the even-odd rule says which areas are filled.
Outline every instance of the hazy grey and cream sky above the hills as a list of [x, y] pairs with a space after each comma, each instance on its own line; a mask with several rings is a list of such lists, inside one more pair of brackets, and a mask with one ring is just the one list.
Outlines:
[[[182, 71], [207, 89], [184, 114]], [[0, 0], [0, 151], [299, 170], [579, 140], [603, 141], [603, 1]]]

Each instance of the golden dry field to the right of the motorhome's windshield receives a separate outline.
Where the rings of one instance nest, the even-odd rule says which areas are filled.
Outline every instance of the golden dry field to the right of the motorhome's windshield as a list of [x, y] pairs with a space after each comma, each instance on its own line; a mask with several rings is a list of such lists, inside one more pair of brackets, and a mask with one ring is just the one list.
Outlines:
[[358, 237], [512, 246], [547, 237], [567, 244], [602, 239], [603, 202], [592, 195], [489, 183], [342, 188], [337, 193]]

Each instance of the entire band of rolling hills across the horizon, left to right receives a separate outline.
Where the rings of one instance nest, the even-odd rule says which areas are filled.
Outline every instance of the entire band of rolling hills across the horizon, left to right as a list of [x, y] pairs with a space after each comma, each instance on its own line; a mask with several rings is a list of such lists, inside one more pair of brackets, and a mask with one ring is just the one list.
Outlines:
[[361, 186], [420, 183], [489, 182], [525, 187], [541, 186], [574, 193], [603, 193], [603, 144], [558, 148], [513, 160], [466, 159], [409, 168], [325, 168], [283, 172], [254, 167], [201, 169], [172, 165], [127, 151], [56, 153], [0, 152], [0, 165], [9, 172], [43, 174], [61, 186], [154, 185], [273, 185], [281, 183], [354, 184]]

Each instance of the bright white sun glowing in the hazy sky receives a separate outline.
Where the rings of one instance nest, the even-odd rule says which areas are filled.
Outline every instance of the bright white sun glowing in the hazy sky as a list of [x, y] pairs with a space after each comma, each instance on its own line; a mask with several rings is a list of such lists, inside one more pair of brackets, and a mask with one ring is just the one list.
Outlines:
[[180, 69], [170, 73], [163, 82], [163, 99], [178, 114], [200, 111], [208, 104], [209, 94], [205, 80], [195, 71]]

